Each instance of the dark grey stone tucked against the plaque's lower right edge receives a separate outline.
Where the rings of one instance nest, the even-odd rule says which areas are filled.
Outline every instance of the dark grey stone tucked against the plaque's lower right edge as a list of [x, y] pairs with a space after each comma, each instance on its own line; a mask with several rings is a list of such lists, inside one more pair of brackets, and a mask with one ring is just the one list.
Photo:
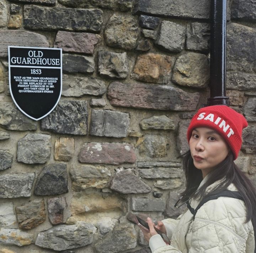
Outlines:
[[41, 129], [59, 134], [87, 134], [87, 101], [60, 100], [57, 107], [42, 119]]

